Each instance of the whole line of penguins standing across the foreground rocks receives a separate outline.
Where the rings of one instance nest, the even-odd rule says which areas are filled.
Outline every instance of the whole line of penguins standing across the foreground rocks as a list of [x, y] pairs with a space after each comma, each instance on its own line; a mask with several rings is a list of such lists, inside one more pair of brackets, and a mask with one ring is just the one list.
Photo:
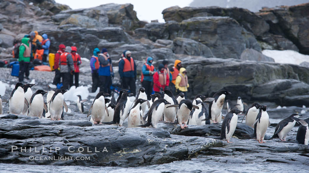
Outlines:
[[[51, 120], [63, 120], [63, 108], [65, 108], [66, 112], [68, 111], [63, 97], [63, 94], [67, 90], [55, 90], [48, 86], [49, 92], [46, 103], [44, 102], [43, 96], [47, 92], [39, 89], [32, 94], [32, 86], [34, 84], [17, 83], [15, 85], [10, 98], [6, 100], [6, 103], [9, 104], [9, 113], [37, 116], [39, 118], [45, 117]], [[128, 128], [150, 126], [157, 128], [158, 122], [164, 120], [165, 123], [175, 122], [182, 129], [185, 129], [188, 127], [187, 124], [203, 125], [220, 123], [225, 97], [230, 94], [231, 92], [226, 90], [216, 92], [213, 97], [209, 98], [198, 94], [191, 102], [184, 98], [184, 93], [180, 93], [174, 97], [171, 91], [165, 90], [161, 93], [152, 94], [151, 100], [147, 100], [145, 88], [141, 87], [133, 103], [130, 101], [133, 93], [129, 93], [127, 89], [121, 90], [118, 99], [115, 100], [115, 103], [112, 103], [111, 99], [106, 98], [109, 96], [108, 93], [99, 92], [92, 102], [87, 117], [91, 116], [90, 121], [92, 124], [103, 123], [117, 126], [122, 126], [128, 118]], [[2, 101], [0, 99], [1, 114]], [[86, 100], [82, 100], [81, 96], [78, 95], [76, 102], [80, 112], [84, 112], [84, 101]], [[209, 102], [208, 112], [203, 102]], [[227, 109], [229, 112], [222, 122], [221, 140], [230, 142], [229, 140], [237, 126], [238, 114], [244, 113], [244, 104], [240, 97], [238, 97], [236, 105], [233, 105], [231, 100], [227, 100]], [[246, 124], [254, 128], [254, 133], [251, 134], [251, 137], [259, 143], [265, 142], [265, 133], [270, 125], [266, 108], [266, 105], [253, 103], [244, 115], [246, 117]], [[299, 119], [300, 116], [302, 115], [292, 114], [281, 120], [277, 124], [271, 139], [279, 138], [285, 141], [287, 134], [294, 127], [295, 123], [298, 122], [300, 127], [297, 132], [296, 141], [299, 144], [307, 145], [309, 141], [309, 118], [301, 120]]]

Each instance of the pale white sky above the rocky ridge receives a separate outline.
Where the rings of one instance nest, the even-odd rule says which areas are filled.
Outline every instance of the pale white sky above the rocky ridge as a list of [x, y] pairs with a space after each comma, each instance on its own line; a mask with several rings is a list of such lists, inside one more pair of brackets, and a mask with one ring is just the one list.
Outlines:
[[86, 0], [86, 1], [76, 1], [76, 0], [55, 0], [58, 3], [66, 4], [70, 6], [71, 9], [80, 8], [90, 8], [99, 6], [102, 4], [126, 4], [131, 3], [134, 6], [137, 17], [139, 20], [144, 20], [150, 22], [151, 20], [158, 19], [159, 22], [164, 22], [162, 11], [171, 6], [186, 7], [193, 0], [155, 0], [155, 1], [142, 1], [142, 0]]

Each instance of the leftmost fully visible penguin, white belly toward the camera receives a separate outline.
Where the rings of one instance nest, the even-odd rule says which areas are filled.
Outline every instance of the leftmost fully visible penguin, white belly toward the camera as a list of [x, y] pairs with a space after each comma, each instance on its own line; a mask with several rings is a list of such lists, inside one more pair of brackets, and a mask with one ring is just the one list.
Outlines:
[[21, 114], [24, 107], [28, 107], [28, 101], [25, 98], [23, 91], [23, 84], [18, 82], [13, 89], [10, 98], [6, 104], [9, 103], [9, 112], [12, 114]]

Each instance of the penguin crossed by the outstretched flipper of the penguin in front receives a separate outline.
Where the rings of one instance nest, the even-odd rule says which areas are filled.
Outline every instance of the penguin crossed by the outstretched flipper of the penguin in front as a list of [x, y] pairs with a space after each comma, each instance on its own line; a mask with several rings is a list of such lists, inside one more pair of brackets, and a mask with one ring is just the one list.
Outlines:
[[[171, 104], [178, 104], [177, 100], [174, 98], [173, 93], [170, 90], [164, 91], [164, 99], [168, 101]], [[169, 104], [166, 104], [164, 106], [163, 114], [164, 114], [164, 123], [171, 122], [173, 123], [176, 120], [176, 108], [167, 108], [167, 106], [170, 106]]]

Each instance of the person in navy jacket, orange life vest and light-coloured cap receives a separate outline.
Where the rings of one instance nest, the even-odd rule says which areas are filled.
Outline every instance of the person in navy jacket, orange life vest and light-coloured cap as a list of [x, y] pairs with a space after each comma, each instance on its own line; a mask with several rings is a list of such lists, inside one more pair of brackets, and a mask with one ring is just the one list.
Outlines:
[[123, 54], [125, 57], [122, 57], [118, 63], [119, 75], [122, 83], [123, 89], [129, 89], [130, 92], [136, 96], [136, 65], [135, 61], [131, 57], [131, 52], [129, 50], [125, 51]]

